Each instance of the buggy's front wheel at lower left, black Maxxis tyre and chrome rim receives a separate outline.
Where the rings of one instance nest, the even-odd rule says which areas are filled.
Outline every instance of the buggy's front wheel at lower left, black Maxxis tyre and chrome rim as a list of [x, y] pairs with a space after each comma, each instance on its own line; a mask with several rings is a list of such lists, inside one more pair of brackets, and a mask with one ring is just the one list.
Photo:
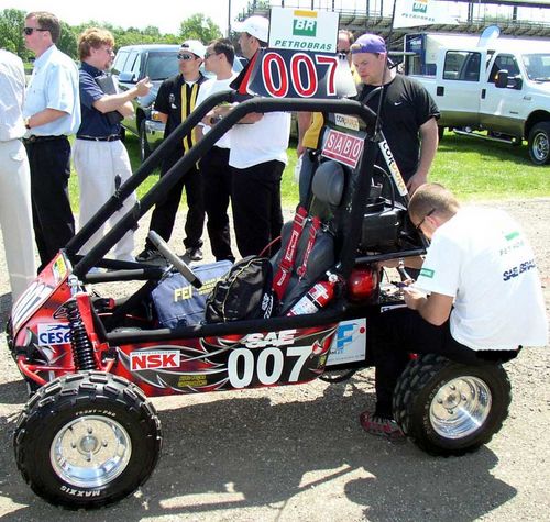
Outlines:
[[13, 445], [33, 491], [55, 506], [94, 509], [135, 491], [151, 475], [161, 424], [143, 392], [101, 371], [42, 387], [21, 413]]

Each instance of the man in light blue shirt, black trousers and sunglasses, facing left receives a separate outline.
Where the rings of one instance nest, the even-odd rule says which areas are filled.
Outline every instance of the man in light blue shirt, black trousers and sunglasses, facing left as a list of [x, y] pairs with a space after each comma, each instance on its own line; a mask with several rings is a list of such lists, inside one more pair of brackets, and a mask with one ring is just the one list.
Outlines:
[[35, 55], [23, 105], [26, 153], [31, 166], [33, 225], [42, 270], [75, 234], [67, 184], [68, 134], [80, 125], [78, 69], [56, 43], [61, 23], [47, 12], [25, 16], [25, 47]]

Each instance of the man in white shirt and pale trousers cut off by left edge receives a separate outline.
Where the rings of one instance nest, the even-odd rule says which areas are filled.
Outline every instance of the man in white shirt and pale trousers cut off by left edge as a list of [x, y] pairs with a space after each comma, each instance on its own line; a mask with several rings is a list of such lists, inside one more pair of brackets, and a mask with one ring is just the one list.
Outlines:
[[25, 147], [23, 62], [0, 49], [0, 226], [13, 302], [36, 275], [31, 173]]

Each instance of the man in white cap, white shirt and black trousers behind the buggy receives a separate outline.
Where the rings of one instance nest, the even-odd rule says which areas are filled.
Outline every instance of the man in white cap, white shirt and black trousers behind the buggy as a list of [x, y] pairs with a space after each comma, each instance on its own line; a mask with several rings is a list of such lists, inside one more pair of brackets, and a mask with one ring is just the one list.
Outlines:
[[[239, 44], [245, 58], [267, 46], [267, 19], [250, 16], [235, 30], [241, 33]], [[249, 114], [231, 130], [233, 223], [243, 257], [260, 254], [280, 235], [280, 180], [288, 162], [289, 134], [290, 114], [285, 112]]]

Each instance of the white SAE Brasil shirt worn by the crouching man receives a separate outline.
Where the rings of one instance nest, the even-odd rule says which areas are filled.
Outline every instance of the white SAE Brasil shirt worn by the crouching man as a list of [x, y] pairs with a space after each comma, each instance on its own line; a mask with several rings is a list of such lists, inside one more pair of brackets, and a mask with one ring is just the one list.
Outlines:
[[459, 210], [435, 232], [416, 286], [454, 298], [451, 334], [472, 349], [548, 343], [535, 255], [506, 212]]

